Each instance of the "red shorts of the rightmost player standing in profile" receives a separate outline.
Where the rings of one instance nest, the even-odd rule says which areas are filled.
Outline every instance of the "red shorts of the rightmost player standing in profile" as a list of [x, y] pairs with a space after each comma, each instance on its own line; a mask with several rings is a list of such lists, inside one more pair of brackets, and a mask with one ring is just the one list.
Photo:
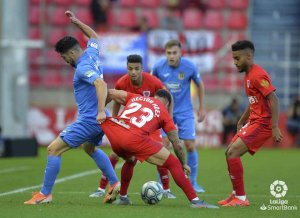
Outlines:
[[272, 128], [270, 125], [253, 122], [243, 126], [235, 134], [231, 142], [234, 142], [237, 138], [241, 138], [248, 147], [249, 153], [254, 155], [270, 137], [272, 137]]

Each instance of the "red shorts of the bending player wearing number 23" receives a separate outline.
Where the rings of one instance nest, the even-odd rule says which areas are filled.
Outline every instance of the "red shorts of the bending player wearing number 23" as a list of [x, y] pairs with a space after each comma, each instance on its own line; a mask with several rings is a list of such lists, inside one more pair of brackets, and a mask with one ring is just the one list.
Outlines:
[[134, 129], [126, 129], [108, 119], [101, 124], [101, 128], [110, 141], [112, 150], [124, 159], [134, 156], [143, 162], [163, 147], [149, 135], [135, 133]]

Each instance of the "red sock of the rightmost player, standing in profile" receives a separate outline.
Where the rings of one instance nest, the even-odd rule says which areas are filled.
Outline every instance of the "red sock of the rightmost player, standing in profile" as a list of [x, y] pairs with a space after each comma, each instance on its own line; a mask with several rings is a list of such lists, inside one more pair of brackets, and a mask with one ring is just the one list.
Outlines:
[[239, 157], [226, 159], [233, 190], [237, 196], [245, 195], [244, 169]]

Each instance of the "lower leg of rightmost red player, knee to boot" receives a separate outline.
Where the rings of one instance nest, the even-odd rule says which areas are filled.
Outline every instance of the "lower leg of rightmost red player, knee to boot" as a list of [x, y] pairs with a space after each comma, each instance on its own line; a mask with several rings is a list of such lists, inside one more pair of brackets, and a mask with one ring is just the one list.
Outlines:
[[233, 192], [226, 199], [218, 203], [225, 207], [249, 206], [244, 189], [244, 169], [240, 157], [248, 151], [248, 147], [241, 140], [236, 138], [227, 148], [226, 161], [231, 179]]

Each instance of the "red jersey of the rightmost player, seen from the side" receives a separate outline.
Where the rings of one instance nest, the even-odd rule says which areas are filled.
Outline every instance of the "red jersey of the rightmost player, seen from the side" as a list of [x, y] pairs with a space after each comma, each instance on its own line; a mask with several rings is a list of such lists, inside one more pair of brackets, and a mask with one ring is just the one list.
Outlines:
[[271, 84], [268, 73], [257, 64], [244, 77], [246, 95], [250, 105], [250, 122], [271, 124], [270, 102], [266, 98], [276, 88]]

